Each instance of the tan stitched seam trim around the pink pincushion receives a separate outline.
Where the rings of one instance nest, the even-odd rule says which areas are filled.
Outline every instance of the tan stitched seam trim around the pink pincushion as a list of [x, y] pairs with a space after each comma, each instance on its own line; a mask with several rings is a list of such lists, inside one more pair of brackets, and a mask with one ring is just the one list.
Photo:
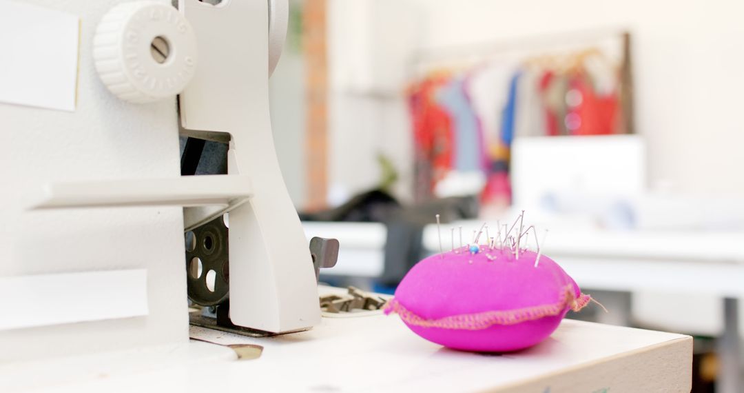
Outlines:
[[583, 293], [576, 298], [574, 286], [569, 284], [563, 287], [558, 301], [554, 304], [542, 304], [516, 310], [484, 311], [482, 313], [446, 316], [440, 319], [423, 319], [405, 308], [395, 298], [391, 298], [385, 304], [383, 310], [385, 310], [385, 314], [397, 313], [400, 315], [400, 319], [403, 319], [408, 325], [440, 329], [482, 330], [493, 325], [516, 325], [541, 319], [545, 316], [557, 316], [565, 310], [566, 306], [571, 306], [571, 310], [578, 311], [589, 304], [589, 301], [591, 301], [591, 296]]

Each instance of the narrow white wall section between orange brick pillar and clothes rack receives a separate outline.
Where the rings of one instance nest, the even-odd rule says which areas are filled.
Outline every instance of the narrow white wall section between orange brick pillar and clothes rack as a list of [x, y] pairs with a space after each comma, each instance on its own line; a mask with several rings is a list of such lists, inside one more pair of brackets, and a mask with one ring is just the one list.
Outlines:
[[330, 0], [328, 7], [330, 198], [378, 185], [382, 153], [399, 171], [395, 194], [408, 199], [413, 145], [402, 93], [420, 40], [417, 4]]

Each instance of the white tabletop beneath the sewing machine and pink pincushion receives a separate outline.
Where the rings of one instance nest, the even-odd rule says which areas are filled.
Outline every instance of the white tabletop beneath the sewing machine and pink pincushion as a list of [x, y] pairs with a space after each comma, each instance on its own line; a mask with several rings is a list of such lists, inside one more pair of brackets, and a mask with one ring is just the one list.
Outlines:
[[[221, 344], [262, 345], [263, 354], [256, 360], [237, 361], [227, 347], [191, 342], [157, 350], [0, 365], [0, 391], [33, 387], [34, 392], [473, 392], [580, 371], [592, 362], [690, 340], [673, 333], [565, 320], [533, 348], [489, 356], [427, 342], [397, 316], [379, 313], [324, 318], [312, 330], [274, 338], [201, 327], [191, 327], [190, 335]], [[688, 344], [689, 351], [682, 351], [681, 357], [657, 361], [674, 363], [678, 370], [688, 368], [692, 354]], [[612, 379], [604, 377], [603, 383]]]

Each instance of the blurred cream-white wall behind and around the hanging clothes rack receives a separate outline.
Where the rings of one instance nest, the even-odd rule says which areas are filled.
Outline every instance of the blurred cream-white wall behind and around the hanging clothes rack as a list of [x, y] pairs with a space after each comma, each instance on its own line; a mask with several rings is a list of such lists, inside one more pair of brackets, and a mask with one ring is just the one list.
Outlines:
[[[405, 66], [400, 48], [413, 53], [417, 48], [501, 42], [542, 33], [628, 28], [633, 39], [635, 125], [649, 145], [651, 185], [663, 180], [676, 191], [744, 195], [744, 176], [738, 176], [744, 167], [744, 155], [739, 153], [744, 144], [744, 118], [739, 115], [744, 104], [744, 2], [372, 2], [373, 7], [370, 0], [330, 1], [330, 64], [336, 72], [331, 79], [339, 94], [354, 89], [379, 92], [378, 88], [394, 92], [390, 81], [399, 80], [400, 74], [380, 72], [377, 65]], [[407, 16], [407, 22], [388, 20], [383, 13]], [[401, 38], [393, 39], [396, 35]], [[334, 103], [331, 109], [331, 143], [338, 147], [332, 151], [330, 179], [350, 188], [376, 179], [373, 165], [365, 161], [371, 150], [389, 151], [402, 165], [408, 158], [402, 154], [410, 152], [405, 117], [395, 115], [400, 109], [390, 112], [393, 115], [373, 115], [386, 122], [386, 130], [381, 130], [382, 124], [350, 120], [372, 110], [372, 96], [368, 100], [371, 103], [360, 109], [349, 108], [349, 103], [338, 103], [343, 109], [334, 109]], [[397, 105], [405, 101], [397, 100]], [[391, 116], [397, 116], [392, 124]], [[380, 136], [371, 140], [369, 132]], [[346, 141], [353, 140], [365, 144], [353, 147], [351, 156]], [[338, 168], [348, 166], [354, 157], [355, 171]]]

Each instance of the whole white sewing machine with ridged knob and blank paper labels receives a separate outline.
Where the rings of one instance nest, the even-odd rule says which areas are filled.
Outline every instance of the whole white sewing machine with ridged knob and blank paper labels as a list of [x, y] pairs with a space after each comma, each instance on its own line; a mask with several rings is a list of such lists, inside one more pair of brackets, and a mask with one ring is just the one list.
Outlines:
[[[0, 108], [19, 152], [3, 166], [39, 168], [0, 198], [0, 294], [20, 309], [0, 322], [0, 360], [185, 342], [187, 293], [210, 306], [202, 325], [318, 324], [317, 269], [338, 243], [313, 240], [311, 257], [269, 121], [287, 1], [59, 3], [80, 16], [77, 107]], [[179, 131], [228, 143], [228, 174], [179, 176]]]

